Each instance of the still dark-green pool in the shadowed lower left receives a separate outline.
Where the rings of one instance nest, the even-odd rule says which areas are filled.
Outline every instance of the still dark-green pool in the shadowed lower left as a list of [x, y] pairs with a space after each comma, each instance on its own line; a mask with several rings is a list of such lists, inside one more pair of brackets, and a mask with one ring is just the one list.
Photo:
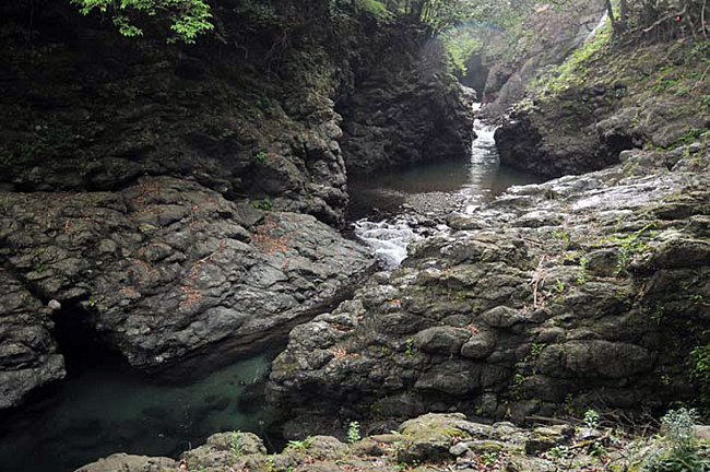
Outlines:
[[66, 356], [66, 380], [0, 418], [1, 471], [73, 471], [114, 452], [176, 457], [213, 433], [268, 438], [275, 416], [260, 396], [268, 355], [186, 384], [158, 381], [96, 346]]

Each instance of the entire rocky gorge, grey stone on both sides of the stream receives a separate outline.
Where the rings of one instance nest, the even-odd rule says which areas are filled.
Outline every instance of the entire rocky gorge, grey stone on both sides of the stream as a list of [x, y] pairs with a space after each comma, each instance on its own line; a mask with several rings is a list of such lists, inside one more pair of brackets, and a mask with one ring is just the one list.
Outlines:
[[[707, 408], [703, 43], [651, 44], [607, 67], [588, 49], [566, 81], [543, 68], [499, 117], [496, 142], [502, 163], [559, 178], [426, 223], [446, 227], [378, 271], [336, 231], [348, 176], [465, 154], [472, 113], [445, 52], [411, 25], [363, 14], [341, 26], [366, 47], [309, 49], [332, 31], [304, 24], [269, 49], [280, 44], [270, 22], [294, 8], [274, 4], [252, 23], [263, 36], [239, 48], [234, 33], [244, 56], [226, 62], [199, 46], [166, 58], [150, 40], [134, 56], [80, 30], [93, 55], [103, 40], [125, 55], [97, 61], [68, 36], [76, 20], [61, 9], [45, 14], [67, 30], [23, 56], [22, 23], [8, 16], [0, 408], [66, 375], [56, 324], [168, 375], [288, 338], [267, 388], [288, 412], [284, 451], [222, 433], [177, 460], [119, 453], [85, 472], [628, 470], [667, 445], [631, 450], [597, 424], [551, 417]], [[84, 83], [27, 82], [47, 60]], [[595, 78], [579, 79], [590, 63]], [[87, 93], [82, 109], [56, 98]], [[535, 422], [558, 424], [523, 429]]]

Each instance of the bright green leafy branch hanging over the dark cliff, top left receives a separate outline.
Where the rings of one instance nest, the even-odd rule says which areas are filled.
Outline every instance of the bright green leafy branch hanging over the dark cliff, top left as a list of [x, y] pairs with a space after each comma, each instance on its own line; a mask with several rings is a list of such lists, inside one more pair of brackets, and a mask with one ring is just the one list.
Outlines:
[[173, 31], [169, 43], [194, 43], [199, 35], [214, 28], [210, 5], [203, 0], [71, 0], [83, 14], [110, 12], [114, 24], [125, 36], [140, 36], [143, 30], [135, 19], [166, 20]]

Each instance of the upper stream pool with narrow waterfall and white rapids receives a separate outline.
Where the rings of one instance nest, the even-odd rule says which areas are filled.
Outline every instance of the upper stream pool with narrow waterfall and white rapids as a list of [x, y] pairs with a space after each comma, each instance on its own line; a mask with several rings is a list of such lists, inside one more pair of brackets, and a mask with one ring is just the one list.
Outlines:
[[472, 213], [513, 185], [541, 181], [530, 174], [500, 166], [494, 127], [476, 121], [475, 132], [478, 138], [468, 161], [417, 164], [348, 184], [355, 235], [386, 266], [399, 266], [412, 241], [437, 229], [446, 231], [430, 222], [417, 227], [407, 214], [436, 219], [452, 211]]

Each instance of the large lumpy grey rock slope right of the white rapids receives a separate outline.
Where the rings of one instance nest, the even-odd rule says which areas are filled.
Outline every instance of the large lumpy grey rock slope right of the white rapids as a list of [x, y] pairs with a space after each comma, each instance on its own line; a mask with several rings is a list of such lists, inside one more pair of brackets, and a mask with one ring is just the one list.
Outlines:
[[[707, 148], [517, 187], [293, 330], [271, 396], [301, 414], [517, 422], [691, 400], [708, 342]], [[695, 388], [695, 390], [694, 390]]]

